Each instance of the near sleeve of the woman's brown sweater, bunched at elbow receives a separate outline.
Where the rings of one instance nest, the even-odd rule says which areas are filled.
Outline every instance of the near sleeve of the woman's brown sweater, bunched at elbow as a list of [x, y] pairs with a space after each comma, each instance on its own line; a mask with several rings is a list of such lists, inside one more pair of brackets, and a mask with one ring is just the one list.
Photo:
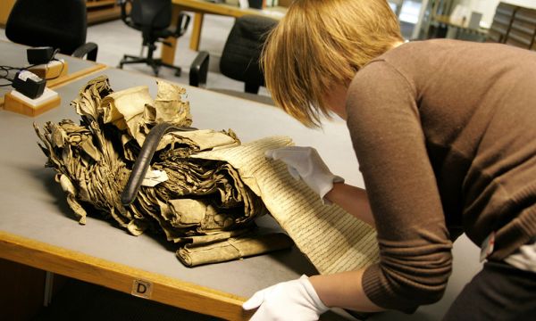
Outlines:
[[380, 262], [364, 272], [367, 297], [413, 312], [445, 291], [452, 243], [415, 86], [388, 62], [360, 70], [348, 91], [348, 129], [378, 232]]

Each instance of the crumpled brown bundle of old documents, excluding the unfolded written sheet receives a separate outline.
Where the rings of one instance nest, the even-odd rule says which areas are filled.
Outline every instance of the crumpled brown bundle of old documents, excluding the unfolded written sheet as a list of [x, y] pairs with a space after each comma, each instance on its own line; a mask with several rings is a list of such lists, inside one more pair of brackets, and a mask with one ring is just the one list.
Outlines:
[[151, 128], [160, 122], [191, 125], [184, 94], [183, 88], [165, 82], [158, 83], [155, 100], [147, 86], [114, 93], [107, 78], [96, 78], [71, 103], [81, 116], [80, 125], [63, 120], [46, 123], [42, 132], [36, 127], [46, 165], [57, 171], [56, 181], [80, 223], [86, 223], [86, 210], [93, 208], [132, 235], [162, 231], [179, 244], [177, 254], [188, 266], [288, 248], [292, 241], [285, 234], [257, 233], [254, 218], [267, 211], [237, 169], [225, 161], [190, 157], [239, 145], [231, 130], [163, 136], [136, 201], [121, 204], [121, 192]]

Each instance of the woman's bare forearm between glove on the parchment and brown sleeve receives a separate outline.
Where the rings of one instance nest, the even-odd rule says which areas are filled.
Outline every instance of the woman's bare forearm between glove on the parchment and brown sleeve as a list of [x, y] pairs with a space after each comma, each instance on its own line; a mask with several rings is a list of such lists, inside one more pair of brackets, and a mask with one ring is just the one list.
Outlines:
[[363, 188], [336, 183], [333, 184], [333, 188], [325, 195], [325, 198], [368, 225], [375, 227], [373, 210], [371, 210], [366, 191]]

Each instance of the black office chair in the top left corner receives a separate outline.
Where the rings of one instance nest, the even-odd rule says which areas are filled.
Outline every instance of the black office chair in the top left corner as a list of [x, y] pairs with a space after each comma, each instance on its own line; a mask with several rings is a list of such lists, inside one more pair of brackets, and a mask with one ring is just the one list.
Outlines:
[[5, 36], [29, 46], [52, 46], [60, 53], [95, 62], [98, 46], [86, 43], [85, 0], [18, 0], [5, 24]]

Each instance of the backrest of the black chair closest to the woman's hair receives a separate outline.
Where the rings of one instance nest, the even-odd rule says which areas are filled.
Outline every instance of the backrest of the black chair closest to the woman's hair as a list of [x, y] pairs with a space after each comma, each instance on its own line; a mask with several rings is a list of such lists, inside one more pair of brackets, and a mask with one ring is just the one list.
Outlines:
[[255, 15], [237, 18], [223, 46], [220, 71], [246, 86], [264, 86], [264, 74], [259, 58], [264, 41], [277, 21]]

